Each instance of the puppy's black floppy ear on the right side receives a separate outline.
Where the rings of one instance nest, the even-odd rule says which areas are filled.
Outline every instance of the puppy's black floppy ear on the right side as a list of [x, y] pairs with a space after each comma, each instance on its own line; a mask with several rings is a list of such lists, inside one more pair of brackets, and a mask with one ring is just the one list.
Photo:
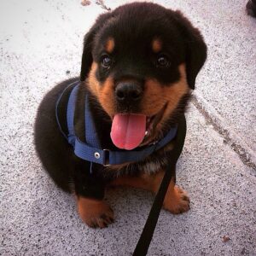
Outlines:
[[179, 26], [182, 26], [182, 35], [186, 47], [186, 73], [191, 89], [195, 89], [195, 78], [207, 60], [207, 45], [197, 28], [187, 20], [179, 11], [175, 12]]

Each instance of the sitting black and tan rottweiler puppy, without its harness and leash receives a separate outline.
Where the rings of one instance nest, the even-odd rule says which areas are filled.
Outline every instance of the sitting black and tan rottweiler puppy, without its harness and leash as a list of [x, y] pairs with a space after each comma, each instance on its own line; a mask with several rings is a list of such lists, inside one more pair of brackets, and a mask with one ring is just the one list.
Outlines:
[[87, 97], [101, 148], [129, 154], [158, 142], [176, 125], [179, 129], [206, 58], [207, 46], [198, 29], [179, 11], [155, 3], [125, 4], [100, 15], [85, 35], [80, 79], [57, 84], [44, 96], [35, 145], [49, 176], [76, 195], [79, 215], [90, 227], [113, 222], [113, 210], [103, 201], [108, 185], [156, 193], [164, 173], [172, 172], [163, 207], [186, 212], [189, 197], [175, 184], [175, 137], [142, 160], [118, 165], [101, 165], [74, 154], [65, 136], [73, 84], [78, 85], [73, 125], [79, 141], [86, 140]]

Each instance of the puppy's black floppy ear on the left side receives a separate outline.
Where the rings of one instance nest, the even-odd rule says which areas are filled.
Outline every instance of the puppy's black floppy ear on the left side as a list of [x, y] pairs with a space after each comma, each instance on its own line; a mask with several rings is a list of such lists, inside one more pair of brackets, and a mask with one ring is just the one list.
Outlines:
[[94, 26], [90, 28], [90, 31], [84, 36], [84, 49], [82, 55], [80, 81], [84, 81], [90, 71], [90, 66], [92, 64], [92, 47], [94, 43], [94, 38], [99, 29], [105, 24], [105, 21], [111, 17], [111, 13], [100, 15]]

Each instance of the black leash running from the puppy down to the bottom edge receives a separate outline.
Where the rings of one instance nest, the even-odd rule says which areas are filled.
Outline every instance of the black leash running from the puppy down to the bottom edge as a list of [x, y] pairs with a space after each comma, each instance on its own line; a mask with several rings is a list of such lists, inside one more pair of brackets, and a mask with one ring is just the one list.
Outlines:
[[[178, 124], [177, 138], [175, 141], [175, 146], [172, 154], [171, 165], [174, 165], [174, 168], [179, 158], [179, 155], [182, 153], [182, 150], [183, 150], [186, 131], [187, 131], [186, 119], [185, 119], [185, 116], [183, 115], [183, 118]], [[149, 212], [147, 222], [144, 225], [143, 233], [139, 241], [137, 242], [137, 246], [132, 254], [133, 256], [144, 256], [144, 255], [147, 255], [148, 253], [148, 247], [154, 235], [154, 229], [160, 215], [160, 210], [166, 196], [168, 185], [171, 182], [171, 178], [172, 178], [172, 172], [168, 172], [168, 169], [169, 168], [167, 168], [165, 176], [162, 179], [162, 182], [160, 184], [160, 189], [158, 190], [157, 195], [154, 198], [153, 206], [151, 207], [151, 210]]]

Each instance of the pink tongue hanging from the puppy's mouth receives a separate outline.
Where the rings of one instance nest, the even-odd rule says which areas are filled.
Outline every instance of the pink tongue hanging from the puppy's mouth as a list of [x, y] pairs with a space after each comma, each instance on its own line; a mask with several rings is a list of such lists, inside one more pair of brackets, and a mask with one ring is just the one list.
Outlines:
[[143, 142], [145, 131], [145, 115], [118, 113], [113, 117], [110, 137], [116, 147], [131, 150]]

